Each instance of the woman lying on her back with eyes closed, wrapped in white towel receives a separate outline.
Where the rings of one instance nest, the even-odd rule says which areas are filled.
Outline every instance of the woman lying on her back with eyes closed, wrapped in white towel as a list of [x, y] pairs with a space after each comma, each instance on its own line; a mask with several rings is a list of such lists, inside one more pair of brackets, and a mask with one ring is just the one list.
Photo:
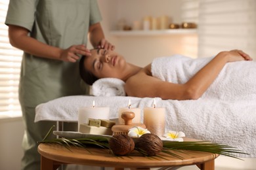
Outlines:
[[256, 62], [242, 50], [219, 52], [213, 58], [156, 58], [143, 68], [111, 50], [93, 49], [91, 54], [80, 60], [81, 78], [90, 85], [99, 78], [119, 78], [129, 96], [256, 99]]

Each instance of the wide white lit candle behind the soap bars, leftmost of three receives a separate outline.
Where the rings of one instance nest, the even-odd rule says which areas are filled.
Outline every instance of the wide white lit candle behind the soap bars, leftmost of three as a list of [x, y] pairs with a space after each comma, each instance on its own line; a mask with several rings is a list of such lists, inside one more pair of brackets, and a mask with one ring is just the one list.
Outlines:
[[95, 119], [110, 119], [109, 107], [95, 107], [95, 101], [93, 101], [92, 107], [80, 107], [78, 109], [78, 131], [80, 124], [88, 124], [89, 118]]

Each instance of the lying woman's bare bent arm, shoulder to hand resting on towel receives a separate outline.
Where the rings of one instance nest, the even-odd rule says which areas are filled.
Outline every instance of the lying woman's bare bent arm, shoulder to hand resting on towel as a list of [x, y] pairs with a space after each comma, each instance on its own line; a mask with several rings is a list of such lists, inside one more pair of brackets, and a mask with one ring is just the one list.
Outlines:
[[162, 99], [198, 99], [219, 75], [224, 65], [231, 61], [251, 60], [240, 50], [220, 52], [185, 84], [164, 82], [150, 75], [150, 65], [132, 76], [125, 84], [127, 95], [136, 97], [161, 97]]

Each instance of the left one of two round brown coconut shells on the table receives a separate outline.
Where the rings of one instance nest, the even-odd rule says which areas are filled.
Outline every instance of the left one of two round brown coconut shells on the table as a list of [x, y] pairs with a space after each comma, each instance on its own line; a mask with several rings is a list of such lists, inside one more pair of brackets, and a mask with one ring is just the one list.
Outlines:
[[125, 134], [117, 134], [110, 138], [110, 149], [115, 155], [126, 155], [135, 148], [135, 143], [131, 137]]

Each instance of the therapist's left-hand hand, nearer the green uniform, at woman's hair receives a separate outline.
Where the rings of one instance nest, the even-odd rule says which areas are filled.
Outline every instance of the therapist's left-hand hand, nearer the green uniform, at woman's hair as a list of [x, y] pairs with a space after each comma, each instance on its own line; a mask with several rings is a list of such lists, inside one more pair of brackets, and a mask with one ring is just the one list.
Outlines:
[[78, 55], [91, 56], [91, 51], [84, 44], [73, 45], [60, 52], [60, 59], [74, 63], [80, 58]]

